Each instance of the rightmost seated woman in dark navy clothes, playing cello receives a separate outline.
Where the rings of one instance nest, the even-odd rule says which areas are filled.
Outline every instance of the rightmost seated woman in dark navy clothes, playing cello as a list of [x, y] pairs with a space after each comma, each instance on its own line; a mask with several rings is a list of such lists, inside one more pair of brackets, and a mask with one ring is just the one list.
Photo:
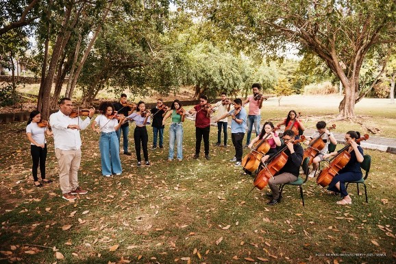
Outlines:
[[[341, 193], [342, 200], [338, 201], [337, 204], [345, 205], [352, 204], [352, 199], [349, 196], [347, 189], [345, 188], [345, 182], [353, 182], [360, 180], [363, 176], [362, 169], [360, 169], [360, 163], [363, 162], [363, 149], [360, 147], [360, 143], [356, 143], [356, 140], [360, 139], [360, 133], [355, 131], [348, 131], [345, 134], [345, 145], [349, 147], [345, 150], [351, 155], [347, 165], [343, 167], [338, 174], [332, 179], [327, 190]], [[325, 154], [323, 158], [330, 158], [337, 156], [344, 150], [341, 149], [338, 152], [332, 152]]]

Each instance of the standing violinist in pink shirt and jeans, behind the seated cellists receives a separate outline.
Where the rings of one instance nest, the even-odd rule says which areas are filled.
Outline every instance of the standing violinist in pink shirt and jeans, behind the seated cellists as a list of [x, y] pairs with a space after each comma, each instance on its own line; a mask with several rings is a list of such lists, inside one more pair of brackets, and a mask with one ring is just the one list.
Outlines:
[[243, 102], [243, 106], [249, 103], [249, 113], [247, 116], [247, 138], [246, 138], [246, 145], [247, 147], [250, 143], [251, 132], [256, 132], [256, 136], [260, 133], [260, 120], [261, 120], [261, 108], [262, 108], [262, 101], [264, 97], [260, 94], [261, 91], [261, 84], [252, 84], [251, 91], [253, 95], [249, 95], [247, 99]]

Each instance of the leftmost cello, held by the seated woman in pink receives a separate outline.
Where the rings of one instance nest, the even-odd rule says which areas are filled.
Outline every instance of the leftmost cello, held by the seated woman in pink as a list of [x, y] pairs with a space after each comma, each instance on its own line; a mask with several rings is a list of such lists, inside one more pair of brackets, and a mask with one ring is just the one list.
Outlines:
[[[272, 132], [275, 133], [276, 130], [279, 130], [279, 127], [273, 128]], [[264, 136], [256, 145], [251, 149], [251, 151], [243, 157], [242, 167], [247, 171], [256, 171], [258, 166], [260, 166], [261, 158], [269, 151], [271, 146], [269, 145], [267, 138], [271, 134], [267, 134]]]

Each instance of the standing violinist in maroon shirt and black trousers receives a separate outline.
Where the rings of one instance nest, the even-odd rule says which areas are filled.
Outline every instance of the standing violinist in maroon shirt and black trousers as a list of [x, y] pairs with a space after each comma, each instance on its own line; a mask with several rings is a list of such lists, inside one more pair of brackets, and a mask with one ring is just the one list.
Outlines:
[[205, 147], [205, 158], [210, 160], [209, 157], [209, 134], [210, 134], [210, 114], [212, 110], [208, 104], [208, 97], [201, 95], [199, 97], [199, 104], [188, 111], [191, 115], [195, 116], [195, 155], [193, 158], [199, 157], [201, 149], [201, 141]]

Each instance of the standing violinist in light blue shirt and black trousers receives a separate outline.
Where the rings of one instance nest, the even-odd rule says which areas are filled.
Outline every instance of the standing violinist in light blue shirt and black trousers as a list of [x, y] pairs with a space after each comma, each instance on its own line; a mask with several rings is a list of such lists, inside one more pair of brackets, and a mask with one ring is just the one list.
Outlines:
[[234, 99], [234, 110], [227, 112], [225, 115], [219, 117], [218, 120], [224, 117], [231, 116], [231, 139], [235, 147], [235, 165], [240, 166], [242, 163], [243, 154], [243, 138], [246, 131], [246, 110], [242, 107], [242, 100], [239, 98]]

